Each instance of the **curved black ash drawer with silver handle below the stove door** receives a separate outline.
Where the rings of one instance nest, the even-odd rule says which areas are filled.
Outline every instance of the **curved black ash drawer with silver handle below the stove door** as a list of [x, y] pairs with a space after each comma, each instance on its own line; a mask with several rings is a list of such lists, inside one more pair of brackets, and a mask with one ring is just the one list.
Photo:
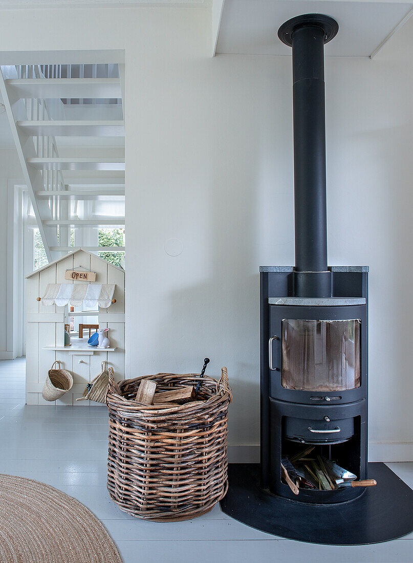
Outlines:
[[354, 418], [325, 421], [284, 417], [282, 428], [283, 436], [288, 440], [306, 444], [337, 444], [354, 435]]

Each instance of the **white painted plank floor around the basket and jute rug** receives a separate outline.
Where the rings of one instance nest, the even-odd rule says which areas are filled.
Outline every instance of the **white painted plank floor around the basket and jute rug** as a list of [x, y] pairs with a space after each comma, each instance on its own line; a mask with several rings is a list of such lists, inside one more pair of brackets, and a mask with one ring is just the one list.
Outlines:
[[[48, 483], [86, 504], [109, 530], [124, 563], [413, 561], [413, 534], [371, 546], [318, 546], [249, 528], [219, 506], [186, 522], [136, 520], [107, 494], [106, 407], [27, 406], [24, 387], [25, 361], [0, 361], [0, 472]], [[413, 463], [388, 465], [413, 488]]]

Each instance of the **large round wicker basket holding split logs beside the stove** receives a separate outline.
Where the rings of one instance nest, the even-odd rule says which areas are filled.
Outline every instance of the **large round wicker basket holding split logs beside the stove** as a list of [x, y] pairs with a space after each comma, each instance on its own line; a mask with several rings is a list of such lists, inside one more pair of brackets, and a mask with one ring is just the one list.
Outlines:
[[226, 494], [227, 369], [204, 376], [199, 401], [173, 408], [133, 401], [142, 379], [157, 391], [196, 385], [199, 374], [158, 373], [115, 383], [109, 376], [107, 489], [119, 508], [154, 521], [179, 521], [212, 510]]

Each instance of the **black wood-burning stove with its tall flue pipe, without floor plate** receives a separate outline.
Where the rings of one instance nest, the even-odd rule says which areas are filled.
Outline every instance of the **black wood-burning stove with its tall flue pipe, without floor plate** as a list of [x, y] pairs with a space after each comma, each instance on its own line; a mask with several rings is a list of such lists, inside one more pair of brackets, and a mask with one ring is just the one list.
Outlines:
[[[367, 267], [327, 267], [324, 44], [338, 24], [308, 14], [279, 38], [293, 48], [295, 267], [262, 267], [261, 480], [294, 498], [281, 458], [312, 444], [366, 478]], [[300, 491], [348, 501], [361, 488]]]

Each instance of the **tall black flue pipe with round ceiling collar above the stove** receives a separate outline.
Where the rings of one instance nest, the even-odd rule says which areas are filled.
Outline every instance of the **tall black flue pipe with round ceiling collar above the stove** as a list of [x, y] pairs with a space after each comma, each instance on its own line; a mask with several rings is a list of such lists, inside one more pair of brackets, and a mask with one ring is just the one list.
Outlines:
[[337, 32], [321, 14], [294, 17], [278, 32], [293, 48], [295, 293], [303, 297], [331, 291], [328, 275], [313, 274], [327, 272], [324, 44]]

